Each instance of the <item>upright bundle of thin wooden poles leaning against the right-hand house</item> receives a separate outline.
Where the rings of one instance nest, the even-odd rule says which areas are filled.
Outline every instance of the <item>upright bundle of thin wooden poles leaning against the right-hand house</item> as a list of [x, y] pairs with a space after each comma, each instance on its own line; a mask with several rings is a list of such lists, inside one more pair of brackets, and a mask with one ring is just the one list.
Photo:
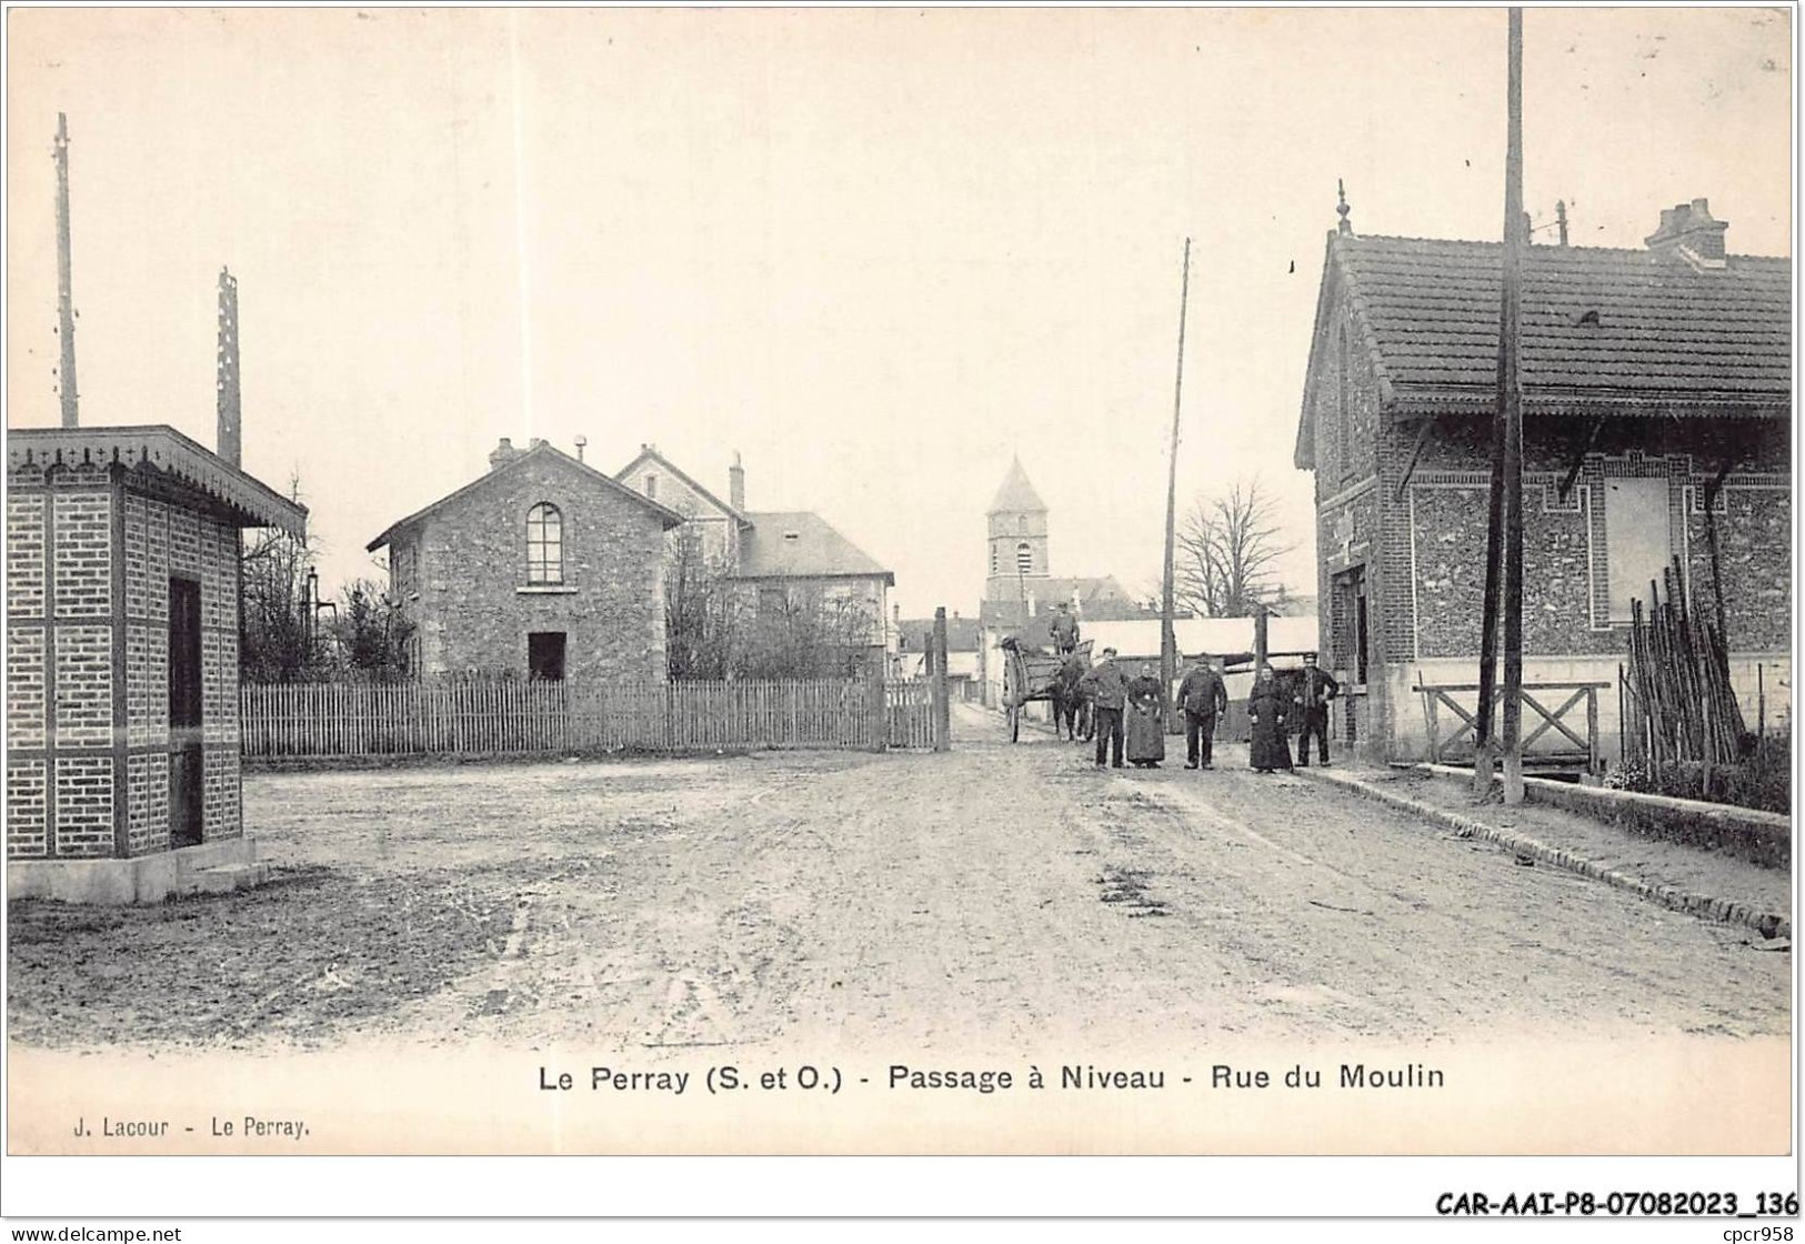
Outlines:
[[[1659, 769], [1671, 762], [1702, 764], [1706, 782], [1717, 766], [1735, 764], [1742, 740], [1742, 708], [1729, 684], [1729, 648], [1709, 616], [1686, 599], [1679, 562], [1650, 580], [1650, 607], [1632, 605], [1626, 681], [1635, 693], [1644, 755]], [[1628, 726], [1628, 722], [1626, 722]]]

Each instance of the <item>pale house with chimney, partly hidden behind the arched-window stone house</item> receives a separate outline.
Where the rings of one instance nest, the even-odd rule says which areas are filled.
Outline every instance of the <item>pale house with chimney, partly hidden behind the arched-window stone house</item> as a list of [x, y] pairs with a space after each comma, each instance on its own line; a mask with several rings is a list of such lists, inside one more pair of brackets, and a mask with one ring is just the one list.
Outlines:
[[897, 634], [888, 619], [895, 574], [812, 511], [749, 511], [738, 455], [727, 471], [726, 502], [653, 444], [641, 446], [614, 478], [670, 506], [700, 531], [704, 556], [718, 562], [754, 617], [821, 605], [856, 610], [870, 627], [854, 659], [877, 672], [892, 664]]

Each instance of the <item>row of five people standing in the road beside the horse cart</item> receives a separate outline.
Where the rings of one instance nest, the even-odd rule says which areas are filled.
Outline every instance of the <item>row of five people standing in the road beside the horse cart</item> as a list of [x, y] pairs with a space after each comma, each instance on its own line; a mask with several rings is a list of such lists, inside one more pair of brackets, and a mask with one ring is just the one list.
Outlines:
[[[1096, 766], [1121, 769], [1126, 758], [1135, 767], [1159, 767], [1166, 758], [1166, 722], [1153, 663], [1144, 661], [1130, 679], [1115, 664], [1115, 648], [1105, 648], [1103, 659], [1079, 679], [1079, 688], [1092, 706]], [[1328, 702], [1339, 692], [1336, 679], [1316, 666], [1314, 655], [1303, 657], [1303, 672], [1291, 688], [1278, 681], [1273, 666], [1262, 664], [1247, 697], [1247, 764], [1256, 773], [1291, 769], [1287, 728], [1292, 724], [1298, 728], [1298, 764], [1309, 767], [1312, 737], [1318, 764], [1328, 764]], [[1179, 684], [1179, 708], [1184, 710], [1184, 767], [1213, 769], [1217, 720], [1229, 708], [1220, 659], [1199, 657], [1191, 664]]]

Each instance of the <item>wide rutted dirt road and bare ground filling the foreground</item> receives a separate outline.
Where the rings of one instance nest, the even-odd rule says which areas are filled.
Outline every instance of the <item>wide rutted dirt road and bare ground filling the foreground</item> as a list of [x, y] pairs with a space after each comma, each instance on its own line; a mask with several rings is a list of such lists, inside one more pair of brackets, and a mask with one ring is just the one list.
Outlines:
[[[43, 1045], [1785, 1033], [1791, 955], [1300, 776], [946, 755], [253, 776], [278, 885], [13, 905]], [[1182, 747], [1182, 742], [1180, 742]], [[171, 1006], [170, 998], [184, 998]], [[191, 1002], [191, 1004], [190, 1004]]]

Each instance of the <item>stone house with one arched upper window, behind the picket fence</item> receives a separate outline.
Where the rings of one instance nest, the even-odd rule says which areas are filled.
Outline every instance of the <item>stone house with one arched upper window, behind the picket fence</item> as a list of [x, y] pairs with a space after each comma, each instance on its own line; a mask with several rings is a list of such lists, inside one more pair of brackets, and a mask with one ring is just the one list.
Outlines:
[[682, 516], [578, 459], [507, 439], [489, 473], [370, 542], [422, 675], [666, 677], [664, 533]]

